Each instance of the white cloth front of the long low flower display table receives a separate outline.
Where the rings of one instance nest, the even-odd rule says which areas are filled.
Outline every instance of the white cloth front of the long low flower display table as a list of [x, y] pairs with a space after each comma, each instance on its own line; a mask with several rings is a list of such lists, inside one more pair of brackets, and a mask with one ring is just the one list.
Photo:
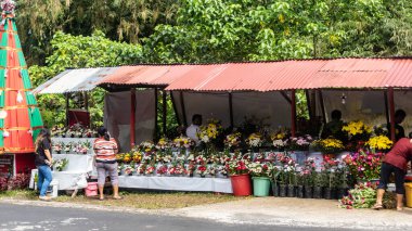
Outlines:
[[119, 187], [128, 189], [233, 193], [229, 178], [119, 176]]

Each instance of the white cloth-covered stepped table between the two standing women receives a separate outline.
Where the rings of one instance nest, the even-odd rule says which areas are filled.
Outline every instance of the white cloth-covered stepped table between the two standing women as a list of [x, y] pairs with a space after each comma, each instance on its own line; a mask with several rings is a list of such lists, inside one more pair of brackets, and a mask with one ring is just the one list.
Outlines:
[[[81, 154], [54, 154], [54, 159], [67, 158], [68, 163], [64, 171], [52, 171], [53, 179], [59, 181], [59, 190], [75, 190], [87, 187], [87, 177], [93, 170], [93, 156]], [[35, 175], [37, 169], [31, 170], [29, 188], [35, 188]]]

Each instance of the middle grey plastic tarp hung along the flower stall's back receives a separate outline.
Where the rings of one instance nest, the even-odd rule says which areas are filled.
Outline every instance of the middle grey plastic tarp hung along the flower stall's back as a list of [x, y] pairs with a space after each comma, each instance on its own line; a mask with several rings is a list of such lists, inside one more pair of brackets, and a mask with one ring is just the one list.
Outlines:
[[[194, 114], [220, 119], [223, 127], [230, 126], [229, 93], [220, 92], [172, 92], [179, 119], [183, 121], [182, 102], [188, 125]], [[183, 95], [181, 100], [180, 95]], [[245, 118], [261, 121], [271, 128], [291, 127], [291, 104], [280, 92], [232, 93], [233, 124], [239, 127]]]

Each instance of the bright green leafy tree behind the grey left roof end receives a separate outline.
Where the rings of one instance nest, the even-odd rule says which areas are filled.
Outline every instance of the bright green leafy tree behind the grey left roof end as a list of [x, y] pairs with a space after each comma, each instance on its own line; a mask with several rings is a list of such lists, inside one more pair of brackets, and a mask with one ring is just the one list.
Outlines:
[[[53, 54], [47, 59], [47, 66], [30, 66], [34, 86], [54, 77], [65, 68], [118, 66], [142, 61], [142, 48], [137, 44], [106, 39], [102, 31], [90, 37], [56, 33], [51, 41]], [[78, 99], [82, 95], [78, 93]], [[100, 125], [103, 118], [104, 90], [96, 89], [90, 94], [89, 110], [92, 121]], [[44, 124], [48, 126], [65, 123], [65, 100], [63, 95], [38, 95]], [[74, 104], [70, 107], [75, 106]]]

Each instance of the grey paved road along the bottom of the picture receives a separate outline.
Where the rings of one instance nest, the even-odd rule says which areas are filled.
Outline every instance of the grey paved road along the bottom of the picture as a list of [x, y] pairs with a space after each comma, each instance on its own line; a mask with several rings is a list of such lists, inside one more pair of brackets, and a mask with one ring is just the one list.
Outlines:
[[[79, 208], [39, 207], [0, 203], [0, 231], [5, 230], [127, 230], [127, 231], [316, 231], [317, 228], [223, 224], [208, 220], [158, 215], [93, 211]], [[326, 229], [323, 229], [326, 231]], [[327, 229], [335, 230], [335, 229]], [[337, 230], [336, 231], [348, 231]]]

